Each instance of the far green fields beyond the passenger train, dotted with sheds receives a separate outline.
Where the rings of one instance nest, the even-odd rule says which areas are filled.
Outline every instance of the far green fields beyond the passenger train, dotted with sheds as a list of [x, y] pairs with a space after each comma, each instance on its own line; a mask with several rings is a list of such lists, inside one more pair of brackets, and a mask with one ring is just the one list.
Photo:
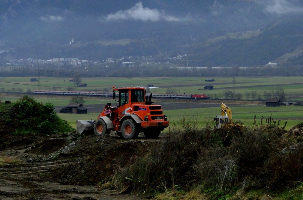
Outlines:
[[[73, 91], [106, 91], [104, 88], [146, 86], [153, 84], [157, 89], [150, 89], [153, 93], [166, 93], [168, 90], [173, 93], [206, 94], [211, 98], [225, 98], [226, 91], [233, 90], [232, 77], [156, 77], [156, 78], [120, 78], [100, 77], [82, 78], [82, 83], [87, 83], [86, 88], [76, 87], [74, 82], [69, 82], [69, 77], [54, 78], [40, 77], [40, 83], [30, 82], [31, 77], [5, 77], [0, 79], [0, 89], [5, 91], [21, 88], [23, 92], [34, 89], [45, 90], [68, 90]], [[32, 77], [37, 78], [37, 77]], [[214, 78], [215, 82], [205, 82], [206, 79]], [[287, 100], [303, 100], [303, 77], [236, 77], [235, 93], [241, 93], [242, 99], [246, 99], [245, 92], [255, 91], [257, 97], [264, 99], [264, 92], [271, 93], [271, 90], [279, 86], [284, 89]], [[213, 85], [213, 90], [203, 90], [204, 86]], [[202, 89], [202, 90], [199, 90]], [[251, 99], [252, 97], [248, 97]]]

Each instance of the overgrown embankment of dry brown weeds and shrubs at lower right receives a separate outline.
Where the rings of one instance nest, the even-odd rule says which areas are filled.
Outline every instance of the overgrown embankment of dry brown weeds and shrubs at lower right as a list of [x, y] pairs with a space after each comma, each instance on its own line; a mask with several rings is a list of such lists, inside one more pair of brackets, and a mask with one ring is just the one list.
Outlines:
[[163, 143], [118, 167], [111, 184], [156, 199], [302, 199], [302, 128], [287, 132], [271, 120], [214, 131], [183, 120]]

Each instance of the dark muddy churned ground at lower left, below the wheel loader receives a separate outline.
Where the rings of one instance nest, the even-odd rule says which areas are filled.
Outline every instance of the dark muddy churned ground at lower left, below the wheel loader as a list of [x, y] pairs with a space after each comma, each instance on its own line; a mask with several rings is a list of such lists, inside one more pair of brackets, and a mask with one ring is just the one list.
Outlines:
[[[0, 199], [151, 199], [115, 190], [116, 168], [159, 145], [163, 137], [120, 139], [95, 135], [0, 138]], [[4, 163], [4, 164], [3, 164]]]

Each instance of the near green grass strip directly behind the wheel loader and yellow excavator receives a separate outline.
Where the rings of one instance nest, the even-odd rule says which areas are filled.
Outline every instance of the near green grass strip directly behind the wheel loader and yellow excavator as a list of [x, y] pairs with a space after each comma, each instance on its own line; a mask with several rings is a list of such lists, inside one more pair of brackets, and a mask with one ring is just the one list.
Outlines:
[[[290, 129], [294, 125], [303, 122], [302, 112], [303, 106], [283, 106], [283, 107], [265, 107], [264, 105], [240, 105], [234, 106], [233, 120], [240, 120], [244, 122], [246, 126], [254, 125], [254, 115], [256, 115], [256, 124], [260, 125], [261, 118], [264, 117], [263, 124], [265, 124], [265, 117], [268, 118], [270, 115], [277, 121], [281, 120], [281, 125], [285, 125], [285, 129]], [[178, 109], [178, 110], [164, 110], [164, 114], [167, 115], [170, 125], [179, 124], [183, 118], [186, 120], [197, 121], [200, 125], [205, 125], [208, 120], [213, 121], [214, 117], [220, 115], [221, 110], [218, 108], [199, 108], [199, 109]], [[88, 113], [86, 115], [76, 114], [63, 114], [58, 115], [66, 120], [73, 128], [76, 128], [76, 120], [91, 120], [96, 119], [98, 113]]]

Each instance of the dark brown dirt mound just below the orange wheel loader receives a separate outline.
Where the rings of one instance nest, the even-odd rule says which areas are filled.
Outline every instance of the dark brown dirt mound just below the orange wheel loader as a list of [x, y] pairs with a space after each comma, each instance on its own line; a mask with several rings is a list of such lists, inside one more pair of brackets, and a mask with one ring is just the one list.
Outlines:
[[130, 165], [138, 155], [146, 153], [148, 144], [119, 140], [110, 135], [84, 136], [69, 152], [69, 155], [82, 159], [72, 166], [57, 169], [56, 173], [51, 173], [51, 178], [69, 185], [106, 183], [116, 168]]

